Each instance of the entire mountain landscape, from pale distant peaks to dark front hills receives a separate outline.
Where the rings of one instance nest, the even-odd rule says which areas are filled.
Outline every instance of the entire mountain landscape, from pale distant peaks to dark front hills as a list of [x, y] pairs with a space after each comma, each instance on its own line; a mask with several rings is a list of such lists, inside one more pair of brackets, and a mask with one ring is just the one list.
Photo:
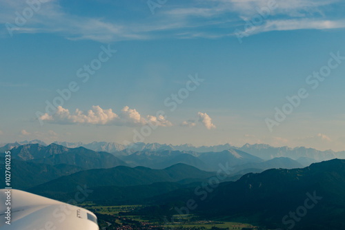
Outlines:
[[[11, 149], [12, 187], [63, 201], [88, 187], [92, 193], [86, 201], [146, 205], [135, 215], [169, 217], [195, 200], [197, 209], [188, 211], [205, 219], [246, 218], [268, 229], [292, 224], [294, 229], [345, 229], [345, 160], [314, 163], [343, 152], [268, 145], [203, 152], [159, 144], [145, 149], [145, 144], [140, 151], [109, 153], [36, 142], [1, 147]], [[0, 158], [0, 170], [4, 167]], [[228, 173], [215, 182], [219, 169]], [[305, 200], [315, 197], [319, 200], [308, 214], [293, 222], [291, 211], [302, 210]]]

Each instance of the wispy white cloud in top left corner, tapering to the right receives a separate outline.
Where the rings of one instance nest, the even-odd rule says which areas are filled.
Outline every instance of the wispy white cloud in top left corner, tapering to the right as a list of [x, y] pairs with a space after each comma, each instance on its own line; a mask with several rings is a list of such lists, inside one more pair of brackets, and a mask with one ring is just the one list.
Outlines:
[[[1, 23], [15, 24], [15, 12], [22, 12], [28, 8], [26, 1], [17, 4], [1, 0], [1, 6], [6, 13], [0, 13]], [[10, 13], [12, 12], [12, 14]], [[26, 24], [14, 30], [17, 33], [55, 33], [67, 39], [88, 39], [95, 41], [117, 41], [128, 39], [144, 39], [144, 34], [130, 32], [125, 24], [104, 21], [102, 18], [84, 17], [69, 14], [59, 5], [59, 1], [41, 3], [41, 7], [34, 12]]]

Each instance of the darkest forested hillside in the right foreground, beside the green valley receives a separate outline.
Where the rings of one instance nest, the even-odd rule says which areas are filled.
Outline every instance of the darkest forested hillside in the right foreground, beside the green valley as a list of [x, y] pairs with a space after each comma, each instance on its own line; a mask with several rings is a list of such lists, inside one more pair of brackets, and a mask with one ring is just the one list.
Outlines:
[[[304, 207], [309, 196], [320, 196], [322, 199], [316, 200], [313, 208], [294, 222], [294, 229], [345, 229], [344, 191], [345, 160], [335, 159], [304, 169], [269, 169], [261, 174], [246, 174], [236, 182], [219, 185], [206, 193], [207, 196], [195, 194], [193, 189], [181, 194], [177, 190], [161, 196], [157, 204], [166, 200], [166, 205], [159, 210], [161, 215], [170, 216], [178, 214], [175, 207], [184, 207], [188, 199], [193, 199], [197, 209], [189, 211], [205, 218], [248, 218], [270, 229], [287, 229], [292, 226], [291, 218], [287, 216], [284, 223], [282, 218]], [[308, 205], [312, 205], [311, 200]], [[144, 209], [153, 213], [155, 210]]]

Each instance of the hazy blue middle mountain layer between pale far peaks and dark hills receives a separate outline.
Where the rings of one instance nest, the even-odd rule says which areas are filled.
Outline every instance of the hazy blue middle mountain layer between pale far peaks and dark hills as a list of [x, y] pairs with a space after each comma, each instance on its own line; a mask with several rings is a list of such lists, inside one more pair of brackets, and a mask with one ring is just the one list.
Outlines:
[[[81, 169], [103, 169], [119, 165], [165, 169], [182, 163], [204, 171], [218, 171], [220, 167], [226, 166], [231, 169], [232, 175], [235, 175], [259, 172], [269, 168], [290, 169], [307, 166], [290, 158], [263, 160], [238, 149], [205, 153], [146, 149], [127, 155], [121, 154], [123, 151], [110, 154], [106, 151], [93, 151], [84, 147], [68, 148], [57, 144], [48, 146], [28, 144], [12, 147], [11, 152], [12, 158], [30, 163], [72, 165]], [[308, 163], [308, 160], [304, 159], [304, 163]]]

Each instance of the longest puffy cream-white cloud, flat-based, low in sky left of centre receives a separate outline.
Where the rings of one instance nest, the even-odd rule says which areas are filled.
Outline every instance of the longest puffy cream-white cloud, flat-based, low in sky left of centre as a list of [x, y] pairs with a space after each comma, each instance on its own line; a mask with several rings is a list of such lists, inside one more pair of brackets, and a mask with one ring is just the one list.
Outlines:
[[151, 123], [161, 127], [172, 126], [170, 121], [167, 121], [164, 116], [146, 116], [142, 117], [136, 109], [130, 109], [128, 106], [121, 110], [121, 114], [115, 114], [112, 109], [102, 109], [99, 105], [92, 106], [92, 109], [84, 113], [76, 109], [74, 113], [70, 113], [68, 109], [57, 107], [57, 112], [54, 115], [43, 114], [39, 118], [41, 121], [57, 124], [90, 124], [90, 125], [125, 125], [125, 126], [143, 126]]

